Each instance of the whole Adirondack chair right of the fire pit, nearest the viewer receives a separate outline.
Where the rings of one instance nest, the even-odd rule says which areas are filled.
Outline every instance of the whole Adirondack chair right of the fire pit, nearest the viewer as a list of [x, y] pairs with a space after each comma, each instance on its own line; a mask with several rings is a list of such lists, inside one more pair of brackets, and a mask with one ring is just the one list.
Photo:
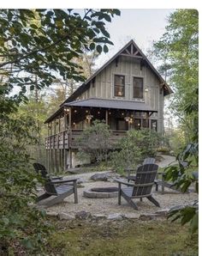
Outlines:
[[[151, 203], [160, 207], [157, 200], [151, 195], [151, 188], [154, 185], [154, 180], [157, 175], [157, 164], [145, 164], [137, 169], [134, 183], [124, 182], [122, 180], [116, 180], [118, 182], [118, 204], [121, 204], [121, 197], [125, 198], [128, 204], [130, 204], [135, 210], [138, 210], [137, 205], [132, 199], [147, 198]], [[122, 187], [126, 185], [126, 187]]]

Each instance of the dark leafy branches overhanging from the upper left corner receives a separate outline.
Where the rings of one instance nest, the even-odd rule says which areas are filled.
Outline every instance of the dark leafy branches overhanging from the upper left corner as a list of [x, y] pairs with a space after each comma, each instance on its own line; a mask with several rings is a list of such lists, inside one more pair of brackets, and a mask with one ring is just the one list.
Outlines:
[[25, 99], [27, 87], [34, 89], [35, 76], [37, 88], [50, 86], [56, 76], [84, 81], [82, 66], [74, 59], [93, 47], [106, 52], [107, 45], [113, 45], [105, 22], [114, 15], [120, 11], [85, 9], [80, 14], [74, 9], [1, 9], [0, 94], [18, 86], [20, 93], [11, 98], [18, 103]]

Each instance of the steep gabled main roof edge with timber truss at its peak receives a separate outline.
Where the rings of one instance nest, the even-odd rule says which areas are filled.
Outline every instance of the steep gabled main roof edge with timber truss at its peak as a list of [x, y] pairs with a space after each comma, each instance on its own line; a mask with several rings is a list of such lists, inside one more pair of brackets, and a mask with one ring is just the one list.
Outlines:
[[151, 70], [154, 72], [154, 74], [158, 77], [158, 79], [162, 82], [162, 88], [163, 88], [163, 94], [168, 95], [172, 94], [173, 91], [171, 88], [169, 88], [169, 85], [164, 81], [163, 77], [157, 72], [157, 70], [154, 68], [154, 66], [151, 64], [151, 62], [146, 58], [146, 55], [140, 50], [139, 46], [136, 45], [134, 40], [130, 40], [128, 44], [122, 49], [117, 52], [112, 58], [110, 58], [109, 61], [107, 61], [100, 69], [98, 69], [92, 76], [90, 76], [86, 82], [80, 85], [79, 88], [77, 88], [73, 94], [71, 94], [66, 101], [63, 101], [60, 106], [62, 106], [65, 102], [74, 101], [80, 94], [84, 93], [87, 88], [90, 87], [90, 83], [92, 79], [97, 76], [106, 66], [108, 66], [112, 61], [114, 61], [118, 56], [130, 56], [132, 58], [140, 58], [143, 62], [145, 62]]

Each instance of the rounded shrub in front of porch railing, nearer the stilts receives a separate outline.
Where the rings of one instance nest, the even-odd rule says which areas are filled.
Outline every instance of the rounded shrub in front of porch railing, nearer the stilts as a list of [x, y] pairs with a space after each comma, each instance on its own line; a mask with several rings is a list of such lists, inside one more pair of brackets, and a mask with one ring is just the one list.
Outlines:
[[99, 120], [93, 121], [92, 126], [84, 129], [77, 138], [80, 159], [90, 156], [92, 162], [107, 160], [107, 154], [111, 149], [110, 135], [109, 125]]

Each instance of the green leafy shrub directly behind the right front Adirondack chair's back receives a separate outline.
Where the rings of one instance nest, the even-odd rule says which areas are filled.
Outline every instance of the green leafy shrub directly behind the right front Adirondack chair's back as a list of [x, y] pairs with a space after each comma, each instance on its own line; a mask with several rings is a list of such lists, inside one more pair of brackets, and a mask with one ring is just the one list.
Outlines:
[[149, 129], [128, 131], [116, 144], [116, 151], [110, 154], [113, 167], [122, 172], [125, 168], [134, 168], [146, 157], [157, 154], [159, 135]]

